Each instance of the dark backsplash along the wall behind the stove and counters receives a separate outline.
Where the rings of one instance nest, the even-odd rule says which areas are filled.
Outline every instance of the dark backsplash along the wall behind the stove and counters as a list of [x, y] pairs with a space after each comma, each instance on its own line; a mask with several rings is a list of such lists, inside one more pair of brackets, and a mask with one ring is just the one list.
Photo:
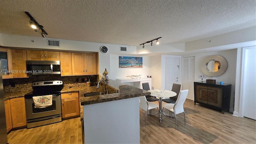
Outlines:
[[96, 83], [98, 81], [98, 75], [88, 76], [60, 76], [60, 74], [49, 75], [31, 75], [29, 78], [10, 78], [3, 79], [4, 92], [14, 91], [32, 91], [32, 83], [46, 80], [62, 80], [65, 86], [82, 86], [86, 85], [86, 81], [90, 79], [90, 82]]

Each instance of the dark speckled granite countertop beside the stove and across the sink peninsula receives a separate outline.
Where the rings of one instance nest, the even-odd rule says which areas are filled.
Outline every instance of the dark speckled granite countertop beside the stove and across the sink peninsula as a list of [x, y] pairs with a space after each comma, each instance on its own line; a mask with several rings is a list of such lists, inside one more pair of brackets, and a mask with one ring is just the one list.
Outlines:
[[[64, 86], [64, 88], [60, 92], [61, 93], [79, 92], [81, 121], [84, 120], [83, 105], [97, 104], [101, 102], [109, 102], [114, 100], [122, 100], [126, 98], [134, 98], [138, 96], [145, 96], [145, 95], [151, 94], [146, 90], [142, 90], [140, 88], [119, 83], [115, 80], [107, 80], [106, 89], [109, 90], [110, 94], [88, 96], [88, 97], [84, 97], [84, 94], [90, 93], [90, 92], [104, 92], [104, 86], [103, 85], [100, 86], [99, 89], [96, 89], [96, 86], [87, 86], [87, 85], [78, 85], [78, 86], [75, 85], [72, 87]], [[119, 91], [120, 93], [118, 93]], [[24, 97], [24, 95], [28, 94], [29, 92], [31, 92], [31, 90], [4, 93], [4, 100], [8, 100], [11, 98]]]

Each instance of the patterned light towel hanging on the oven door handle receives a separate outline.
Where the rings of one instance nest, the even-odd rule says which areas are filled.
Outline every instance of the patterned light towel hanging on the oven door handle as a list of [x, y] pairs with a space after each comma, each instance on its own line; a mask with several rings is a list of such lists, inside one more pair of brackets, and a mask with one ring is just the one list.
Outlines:
[[52, 95], [33, 96], [35, 108], [46, 108], [52, 106]]

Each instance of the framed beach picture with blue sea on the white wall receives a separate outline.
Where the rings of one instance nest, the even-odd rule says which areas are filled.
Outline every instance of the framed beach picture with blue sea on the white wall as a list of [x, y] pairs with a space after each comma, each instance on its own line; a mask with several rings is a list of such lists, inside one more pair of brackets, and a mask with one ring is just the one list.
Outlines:
[[119, 68], [142, 68], [142, 57], [119, 56]]

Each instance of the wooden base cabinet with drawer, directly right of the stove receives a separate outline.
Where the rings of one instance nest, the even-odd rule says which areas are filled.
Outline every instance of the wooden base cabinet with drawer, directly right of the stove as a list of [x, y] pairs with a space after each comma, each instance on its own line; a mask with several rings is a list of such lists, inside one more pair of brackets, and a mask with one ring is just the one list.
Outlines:
[[62, 118], [74, 118], [80, 116], [79, 93], [68, 92], [61, 94]]

